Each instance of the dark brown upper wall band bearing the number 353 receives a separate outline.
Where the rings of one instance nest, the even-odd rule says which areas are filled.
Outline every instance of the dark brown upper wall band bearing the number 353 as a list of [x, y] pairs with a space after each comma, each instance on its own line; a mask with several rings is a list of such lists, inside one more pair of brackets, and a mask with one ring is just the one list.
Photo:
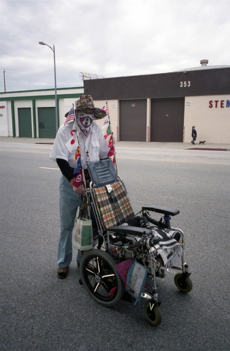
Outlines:
[[84, 81], [94, 100], [172, 98], [230, 93], [230, 68]]

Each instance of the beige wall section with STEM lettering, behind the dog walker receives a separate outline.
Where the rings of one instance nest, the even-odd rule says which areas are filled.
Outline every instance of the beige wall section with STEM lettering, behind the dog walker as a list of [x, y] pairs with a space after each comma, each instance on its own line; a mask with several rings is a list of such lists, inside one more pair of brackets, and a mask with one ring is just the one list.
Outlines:
[[228, 101], [230, 101], [230, 95], [185, 97], [185, 143], [192, 140], [192, 126], [195, 125], [197, 141], [205, 140], [206, 143], [230, 144], [230, 106]]

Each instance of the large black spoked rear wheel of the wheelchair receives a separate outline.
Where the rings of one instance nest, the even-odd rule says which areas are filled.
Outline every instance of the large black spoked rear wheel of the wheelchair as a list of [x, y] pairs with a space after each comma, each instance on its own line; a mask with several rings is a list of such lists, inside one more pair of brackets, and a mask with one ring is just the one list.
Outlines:
[[123, 296], [124, 283], [109, 253], [94, 249], [87, 251], [80, 263], [81, 281], [87, 293], [97, 303], [111, 307]]

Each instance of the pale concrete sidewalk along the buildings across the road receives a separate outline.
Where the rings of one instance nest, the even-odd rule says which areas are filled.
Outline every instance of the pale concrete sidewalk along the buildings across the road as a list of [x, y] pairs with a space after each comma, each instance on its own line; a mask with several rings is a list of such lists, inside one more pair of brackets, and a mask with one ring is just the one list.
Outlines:
[[[47, 144], [52, 145], [54, 139], [50, 138], [12, 138], [12, 137], [0, 137], [1, 143], [20, 143], [20, 144]], [[141, 148], [162, 148], [162, 149], [189, 149], [189, 150], [216, 150], [216, 151], [230, 151], [230, 144], [211, 144], [205, 143], [205, 145], [199, 145], [197, 142], [195, 145], [191, 143], [158, 143], [151, 141], [146, 143], [145, 141], [115, 141], [117, 147], [141, 147]]]

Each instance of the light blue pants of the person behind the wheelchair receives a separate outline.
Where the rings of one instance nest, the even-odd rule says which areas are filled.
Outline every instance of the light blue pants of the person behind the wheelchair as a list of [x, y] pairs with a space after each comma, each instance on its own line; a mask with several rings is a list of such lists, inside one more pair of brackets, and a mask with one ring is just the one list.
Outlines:
[[81, 196], [74, 193], [72, 184], [68, 182], [63, 174], [60, 178], [59, 192], [61, 230], [57, 261], [61, 268], [68, 266], [72, 261], [72, 232], [78, 207], [81, 206]]

